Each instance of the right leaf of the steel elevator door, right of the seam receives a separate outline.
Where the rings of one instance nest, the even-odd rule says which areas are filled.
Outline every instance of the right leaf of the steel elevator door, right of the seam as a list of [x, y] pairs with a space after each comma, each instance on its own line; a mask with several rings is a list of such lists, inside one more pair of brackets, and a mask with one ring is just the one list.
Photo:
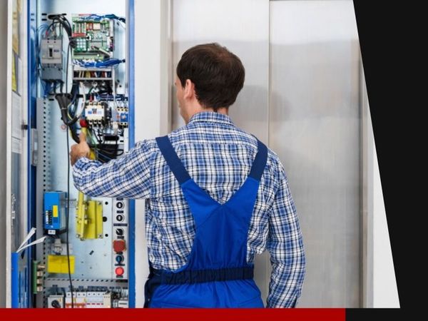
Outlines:
[[300, 307], [360, 306], [360, 50], [352, 1], [270, 4], [270, 147], [307, 258]]

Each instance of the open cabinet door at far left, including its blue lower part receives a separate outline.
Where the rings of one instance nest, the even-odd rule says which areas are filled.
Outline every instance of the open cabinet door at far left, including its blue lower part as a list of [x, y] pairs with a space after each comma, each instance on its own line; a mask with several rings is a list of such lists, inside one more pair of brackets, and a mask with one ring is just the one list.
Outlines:
[[29, 307], [27, 226], [26, 1], [9, 0], [6, 85], [6, 306]]

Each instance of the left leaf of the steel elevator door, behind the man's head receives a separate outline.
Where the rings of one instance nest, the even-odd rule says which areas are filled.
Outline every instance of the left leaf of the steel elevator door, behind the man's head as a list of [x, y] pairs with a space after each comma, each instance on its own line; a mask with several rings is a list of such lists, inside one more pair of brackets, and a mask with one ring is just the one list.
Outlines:
[[[269, 81], [268, 0], [174, 0], [173, 72], [191, 46], [218, 42], [236, 54], [245, 67], [245, 83], [230, 106], [232, 121], [267, 143]], [[184, 125], [173, 92], [173, 129]], [[267, 297], [270, 275], [267, 253], [255, 258], [255, 282]]]

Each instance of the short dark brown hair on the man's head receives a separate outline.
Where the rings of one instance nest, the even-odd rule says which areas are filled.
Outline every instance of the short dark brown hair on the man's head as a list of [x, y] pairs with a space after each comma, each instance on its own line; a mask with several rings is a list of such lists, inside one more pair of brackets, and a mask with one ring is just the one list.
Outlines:
[[244, 86], [245, 68], [240, 58], [219, 44], [200, 44], [181, 56], [177, 66], [181, 86], [190, 79], [204, 107], [228, 108]]

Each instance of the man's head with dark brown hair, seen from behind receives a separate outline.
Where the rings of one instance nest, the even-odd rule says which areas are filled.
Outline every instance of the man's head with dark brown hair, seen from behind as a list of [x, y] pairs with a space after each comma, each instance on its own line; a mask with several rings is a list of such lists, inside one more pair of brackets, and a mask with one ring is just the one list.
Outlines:
[[200, 44], [181, 56], [177, 66], [178, 105], [186, 123], [200, 111], [227, 113], [244, 86], [238, 56], [219, 44]]

